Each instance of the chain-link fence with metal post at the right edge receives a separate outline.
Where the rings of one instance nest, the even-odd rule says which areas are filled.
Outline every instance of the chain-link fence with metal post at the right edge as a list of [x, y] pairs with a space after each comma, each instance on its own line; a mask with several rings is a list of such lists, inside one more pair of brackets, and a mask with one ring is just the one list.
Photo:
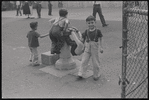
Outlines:
[[148, 97], [148, 1], [123, 1], [122, 98]]

